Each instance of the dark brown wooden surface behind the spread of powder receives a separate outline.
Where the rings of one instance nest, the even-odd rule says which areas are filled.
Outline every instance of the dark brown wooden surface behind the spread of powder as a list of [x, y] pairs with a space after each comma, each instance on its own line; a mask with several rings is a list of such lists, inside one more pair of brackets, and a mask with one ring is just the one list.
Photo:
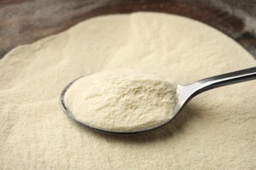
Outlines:
[[256, 56], [255, 0], [0, 0], [0, 58], [28, 44], [104, 14], [157, 11], [211, 25]]

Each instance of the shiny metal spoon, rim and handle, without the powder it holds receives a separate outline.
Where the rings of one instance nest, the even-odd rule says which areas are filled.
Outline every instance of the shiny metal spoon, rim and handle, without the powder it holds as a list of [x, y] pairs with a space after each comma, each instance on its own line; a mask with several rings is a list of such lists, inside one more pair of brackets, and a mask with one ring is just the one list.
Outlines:
[[[81, 76], [79, 78], [82, 78], [84, 76]], [[171, 122], [174, 120], [174, 118], [181, 112], [182, 108], [196, 95], [205, 92], [207, 90], [211, 90], [213, 88], [219, 88], [222, 86], [228, 86], [230, 84], [236, 84], [239, 82], [245, 82], [249, 80], [255, 80], [256, 79], [256, 67], [252, 67], [249, 69], [244, 69], [240, 71], [235, 71], [232, 73], [226, 73], [224, 75], [217, 75], [217, 76], [212, 76], [209, 78], [204, 78], [202, 80], [198, 80], [192, 84], [188, 85], [177, 85], [177, 90], [176, 90], [176, 105], [175, 109], [170, 115], [169, 121], [165, 124], [162, 124], [158, 127], [153, 127], [150, 129], [146, 129], [144, 131], [131, 131], [131, 132], [116, 132], [116, 131], [106, 131], [103, 129], [97, 129], [95, 127], [91, 127], [87, 124], [84, 124], [83, 122], [80, 122], [75, 118], [74, 114], [66, 107], [65, 101], [64, 101], [64, 95], [68, 88], [72, 86], [72, 84], [78, 80], [79, 78], [73, 80], [70, 82], [64, 90], [62, 90], [62, 93], [60, 94], [60, 107], [62, 110], [68, 115], [69, 118], [74, 120], [77, 124], [80, 124], [81, 126], [87, 127], [89, 129], [92, 129], [93, 131], [98, 131], [100, 133], [107, 133], [111, 135], [136, 135], [140, 133], [146, 133], [148, 131], [152, 131], [154, 129], [158, 129], [159, 127], [164, 126], [165, 124]]]

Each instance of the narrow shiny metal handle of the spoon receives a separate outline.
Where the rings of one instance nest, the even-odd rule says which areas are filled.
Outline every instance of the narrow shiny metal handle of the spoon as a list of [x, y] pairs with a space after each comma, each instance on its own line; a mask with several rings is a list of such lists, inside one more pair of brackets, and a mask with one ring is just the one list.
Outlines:
[[226, 73], [223, 75], [211, 76], [204, 78], [190, 85], [196, 85], [198, 88], [194, 95], [211, 90], [213, 88], [219, 88], [222, 86], [228, 86], [230, 84], [236, 84], [239, 82], [245, 82], [256, 79], [256, 67], [244, 69], [240, 71], [234, 71], [232, 73]]

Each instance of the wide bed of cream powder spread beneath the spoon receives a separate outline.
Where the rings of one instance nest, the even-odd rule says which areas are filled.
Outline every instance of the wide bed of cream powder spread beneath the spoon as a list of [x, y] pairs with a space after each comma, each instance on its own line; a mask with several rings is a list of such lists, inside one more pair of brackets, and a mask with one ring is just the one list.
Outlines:
[[177, 118], [136, 136], [95, 133], [58, 102], [75, 78], [142, 69], [189, 84], [255, 67], [232, 39], [181, 16], [92, 18], [0, 60], [0, 169], [255, 169], [255, 81], [196, 96]]

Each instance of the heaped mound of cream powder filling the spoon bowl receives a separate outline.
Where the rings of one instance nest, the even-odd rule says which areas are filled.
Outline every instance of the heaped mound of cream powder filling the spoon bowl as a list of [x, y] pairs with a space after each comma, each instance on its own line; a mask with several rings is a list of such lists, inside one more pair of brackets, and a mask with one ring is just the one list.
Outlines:
[[75, 118], [106, 131], [143, 131], [169, 120], [176, 86], [160, 76], [114, 69], [84, 76], [64, 101]]

